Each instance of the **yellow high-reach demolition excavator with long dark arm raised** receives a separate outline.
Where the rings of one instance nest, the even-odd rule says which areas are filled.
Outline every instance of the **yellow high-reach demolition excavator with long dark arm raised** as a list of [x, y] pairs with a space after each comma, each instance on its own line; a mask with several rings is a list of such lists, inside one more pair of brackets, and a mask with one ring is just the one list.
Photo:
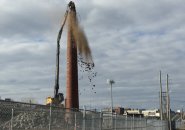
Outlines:
[[73, 6], [73, 2], [68, 4], [66, 13], [64, 15], [64, 20], [62, 26], [59, 30], [58, 37], [57, 37], [57, 53], [56, 53], [56, 72], [55, 72], [55, 86], [54, 86], [54, 97], [47, 97], [46, 98], [46, 105], [52, 106], [62, 106], [61, 103], [64, 101], [63, 93], [59, 93], [59, 63], [60, 63], [60, 39], [63, 31], [63, 27], [67, 20], [68, 10]]

